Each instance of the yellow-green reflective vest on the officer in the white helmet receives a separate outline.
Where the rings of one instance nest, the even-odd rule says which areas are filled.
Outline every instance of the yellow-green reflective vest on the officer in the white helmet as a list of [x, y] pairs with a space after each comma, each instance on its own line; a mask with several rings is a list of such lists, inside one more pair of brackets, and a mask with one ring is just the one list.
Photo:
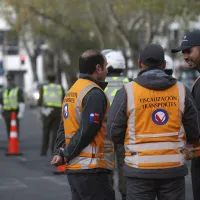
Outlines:
[[126, 83], [129, 82], [128, 78], [122, 76], [113, 76], [113, 77], [106, 77], [106, 82], [108, 82], [107, 87], [105, 88], [104, 92], [108, 96], [110, 104], [114, 99], [115, 94], [117, 91]]

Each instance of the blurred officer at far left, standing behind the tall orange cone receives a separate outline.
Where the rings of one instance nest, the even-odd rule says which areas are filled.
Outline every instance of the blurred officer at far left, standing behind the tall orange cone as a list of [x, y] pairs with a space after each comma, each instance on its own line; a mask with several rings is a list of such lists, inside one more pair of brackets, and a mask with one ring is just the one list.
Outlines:
[[19, 119], [23, 118], [25, 111], [23, 90], [14, 83], [14, 74], [8, 73], [8, 86], [0, 94], [0, 113], [6, 122], [7, 135], [10, 135], [11, 113], [17, 113], [17, 127], [19, 132]]

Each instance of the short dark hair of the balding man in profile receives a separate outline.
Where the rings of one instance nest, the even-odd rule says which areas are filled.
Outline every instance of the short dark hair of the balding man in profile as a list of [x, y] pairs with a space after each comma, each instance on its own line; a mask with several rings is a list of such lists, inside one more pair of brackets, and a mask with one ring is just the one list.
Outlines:
[[79, 72], [93, 74], [98, 64], [103, 68], [104, 62], [105, 58], [101, 51], [89, 49], [79, 57]]

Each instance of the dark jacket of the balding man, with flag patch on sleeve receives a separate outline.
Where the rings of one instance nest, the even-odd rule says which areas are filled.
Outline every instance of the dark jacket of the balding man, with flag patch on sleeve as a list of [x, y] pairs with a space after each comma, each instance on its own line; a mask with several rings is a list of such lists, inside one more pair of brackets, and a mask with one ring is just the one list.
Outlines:
[[[98, 84], [103, 90], [107, 86], [106, 82], [97, 82], [91, 76], [86, 74], [80, 74], [79, 78], [91, 80], [96, 84]], [[83, 111], [82, 111], [80, 127], [76, 131], [74, 136], [71, 138], [68, 146], [65, 147], [63, 121], [61, 121], [59, 130], [57, 132], [54, 155], [56, 154], [61, 155], [62, 153], [59, 151], [59, 148], [61, 146], [65, 147], [64, 156], [68, 161], [76, 157], [86, 146], [88, 146], [99, 132], [107, 108], [107, 99], [104, 92], [99, 88], [91, 89], [83, 98], [82, 108]], [[99, 123], [89, 122], [89, 115], [91, 113], [99, 113], [100, 116]], [[108, 171], [108, 170], [90, 169], [90, 172], [97, 172], [97, 171]], [[83, 172], [88, 172], [88, 170], [68, 170], [68, 172], [83, 173]]]

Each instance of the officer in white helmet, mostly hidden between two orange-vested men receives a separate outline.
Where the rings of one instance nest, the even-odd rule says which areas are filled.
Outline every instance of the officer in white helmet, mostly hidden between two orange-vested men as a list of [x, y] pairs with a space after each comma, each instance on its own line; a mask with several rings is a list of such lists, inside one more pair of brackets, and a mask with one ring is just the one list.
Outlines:
[[[114, 51], [111, 49], [105, 49], [102, 51], [107, 60], [107, 70], [108, 74], [106, 77], [106, 82], [108, 82], [107, 87], [104, 92], [109, 98], [110, 104], [112, 104], [113, 98], [119, 88], [121, 88], [125, 83], [129, 82], [129, 79], [125, 77], [122, 73], [125, 70], [125, 59], [121, 52]], [[122, 200], [126, 199], [126, 179], [123, 176], [123, 164], [124, 164], [124, 145], [115, 144], [115, 153], [117, 158], [117, 169], [118, 169], [118, 189], [121, 193]], [[113, 184], [113, 176], [112, 176]]]

